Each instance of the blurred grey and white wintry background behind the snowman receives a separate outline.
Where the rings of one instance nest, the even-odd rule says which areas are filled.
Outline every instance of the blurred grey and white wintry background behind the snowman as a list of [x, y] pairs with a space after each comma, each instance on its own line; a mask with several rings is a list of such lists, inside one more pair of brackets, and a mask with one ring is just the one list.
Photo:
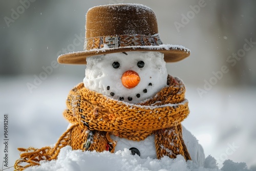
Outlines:
[[[164, 44], [191, 50], [188, 58], [166, 65], [170, 75], [186, 84], [190, 115], [183, 125], [220, 166], [231, 159], [256, 170], [256, 1], [0, 3], [0, 136], [4, 141], [8, 114], [8, 166], [19, 158], [17, 147], [54, 144], [65, 132], [65, 100], [82, 81], [86, 66], [58, 65], [56, 60], [60, 54], [83, 50], [88, 9], [139, 3], [154, 10]], [[3, 159], [3, 143], [0, 151]]]

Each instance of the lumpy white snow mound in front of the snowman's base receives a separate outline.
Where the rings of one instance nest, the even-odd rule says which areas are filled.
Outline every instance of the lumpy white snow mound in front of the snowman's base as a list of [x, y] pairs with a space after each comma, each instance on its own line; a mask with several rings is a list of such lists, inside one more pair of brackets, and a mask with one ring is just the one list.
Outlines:
[[[207, 157], [208, 163], [216, 161], [213, 157]], [[206, 159], [207, 159], [206, 158]], [[129, 149], [124, 151], [118, 151], [114, 154], [110, 152], [98, 153], [82, 152], [81, 150], [73, 151], [70, 146], [63, 147], [60, 150], [57, 160], [41, 161], [40, 166], [33, 166], [26, 170], [53, 170], [53, 171], [79, 171], [79, 170], [179, 170], [179, 171], [204, 171], [204, 170], [219, 170], [218, 168], [210, 169], [199, 167], [192, 161], [186, 162], [183, 156], [179, 155], [176, 159], [170, 159], [163, 157], [161, 160], [152, 159], [150, 157], [141, 159], [139, 156], [132, 156]], [[223, 171], [229, 170], [247, 170], [245, 163], [234, 163], [231, 160], [227, 160], [224, 163]], [[212, 167], [211, 167], [212, 168]]]

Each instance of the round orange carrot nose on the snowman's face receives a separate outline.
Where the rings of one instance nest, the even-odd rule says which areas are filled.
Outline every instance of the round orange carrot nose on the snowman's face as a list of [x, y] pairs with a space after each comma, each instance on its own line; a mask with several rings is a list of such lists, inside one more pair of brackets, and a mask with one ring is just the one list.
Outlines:
[[137, 72], [129, 70], [123, 73], [122, 83], [127, 89], [132, 89], [138, 85], [140, 82], [140, 76]]

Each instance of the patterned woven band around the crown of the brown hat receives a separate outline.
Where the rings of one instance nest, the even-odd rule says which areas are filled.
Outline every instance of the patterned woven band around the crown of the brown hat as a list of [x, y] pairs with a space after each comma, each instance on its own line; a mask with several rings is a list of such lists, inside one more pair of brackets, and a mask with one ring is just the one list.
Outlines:
[[[131, 46], [159, 46], [162, 45], [159, 34], [154, 35], [115, 35], [87, 38], [84, 50], [119, 48]], [[106, 47], [107, 46], [107, 47]]]

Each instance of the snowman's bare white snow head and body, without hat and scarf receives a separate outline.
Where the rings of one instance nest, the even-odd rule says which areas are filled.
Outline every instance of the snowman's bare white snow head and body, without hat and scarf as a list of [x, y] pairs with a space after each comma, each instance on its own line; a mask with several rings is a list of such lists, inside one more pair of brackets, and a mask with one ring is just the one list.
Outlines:
[[[123, 52], [87, 58], [84, 86], [113, 99], [139, 103], [154, 97], [167, 86], [167, 70], [164, 55], [160, 52]], [[202, 147], [190, 132], [183, 128], [191, 159], [203, 165]], [[111, 138], [117, 142], [115, 152], [124, 148], [136, 148], [141, 158], [157, 158], [155, 136], [148, 136], [143, 141], [125, 138]]]

